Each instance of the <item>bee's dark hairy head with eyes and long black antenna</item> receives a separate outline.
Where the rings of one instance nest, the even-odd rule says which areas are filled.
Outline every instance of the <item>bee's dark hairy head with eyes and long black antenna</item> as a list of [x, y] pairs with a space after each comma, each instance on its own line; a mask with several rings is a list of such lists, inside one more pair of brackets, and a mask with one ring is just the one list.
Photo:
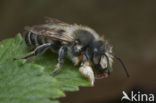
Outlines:
[[122, 64], [127, 76], [129, 76], [125, 65], [119, 57], [116, 57], [112, 53], [112, 46], [106, 41], [93, 42], [91, 49], [91, 62], [95, 68], [100, 72], [107, 72], [110, 74], [110, 68], [112, 67], [113, 58], [116, 58]]

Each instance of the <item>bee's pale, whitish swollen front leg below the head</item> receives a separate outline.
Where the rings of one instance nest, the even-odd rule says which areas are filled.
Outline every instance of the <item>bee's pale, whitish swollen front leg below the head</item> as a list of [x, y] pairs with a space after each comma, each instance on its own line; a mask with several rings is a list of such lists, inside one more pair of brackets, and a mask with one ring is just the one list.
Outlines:
[[89, 79], [89, 81], [91, 82], [91, 86], [94, 86], [95, 81], [94, 72], [86, 55], [83, 55], [82, 57], [82, 64], [81, 67], [79, 68], [79, 71], [84, 77]]

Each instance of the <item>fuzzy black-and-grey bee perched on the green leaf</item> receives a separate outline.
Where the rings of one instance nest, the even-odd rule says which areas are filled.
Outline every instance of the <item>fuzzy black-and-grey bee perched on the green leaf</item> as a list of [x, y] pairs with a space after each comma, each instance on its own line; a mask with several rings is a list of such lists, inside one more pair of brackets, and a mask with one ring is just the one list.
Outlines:
[[[45, 24], [25, 27], [25, 31], [24, 40], [34, 50], [15, 60], [37, 56], [50, 49], [58, 53], [58, 63], [51, 73], [52, 76], [60, 71], [67, 57], [75, 65], [80, 64], [79, 72], [88, 78], [93, 86], [96, 78], [110, 75], [113, 59], [116, 58], [129, 77], [122, 60], [112, 53], [112, 46], [87, 26], [72, 25], [58, 19], [47, 18]], [[95, 73], [93, 69], [98, 72]]]

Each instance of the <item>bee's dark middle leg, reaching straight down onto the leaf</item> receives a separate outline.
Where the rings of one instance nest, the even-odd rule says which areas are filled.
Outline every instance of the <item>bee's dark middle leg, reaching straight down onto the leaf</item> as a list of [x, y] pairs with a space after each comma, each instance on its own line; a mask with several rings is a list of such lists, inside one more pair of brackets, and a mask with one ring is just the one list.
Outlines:
[[54, 76], [55, 74], [57, 74], [64, 62], [64, 58], [67, 55], [67, 47], [61, 47], [59, 50], [59, 57], [58, 57], [58, 63], [56, 65], [55, 70], [51, 73], [52, 76]]

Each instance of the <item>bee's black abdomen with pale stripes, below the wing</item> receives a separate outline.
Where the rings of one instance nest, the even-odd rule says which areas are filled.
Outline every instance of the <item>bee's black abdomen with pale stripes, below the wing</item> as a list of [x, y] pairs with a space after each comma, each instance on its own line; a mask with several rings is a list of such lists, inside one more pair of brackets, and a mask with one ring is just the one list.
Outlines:
[[42, 45], [42, 44], [46, 44], [46, 43], [53, 43], [52, 48], [55, 50], [59, 49], [61, 46], [61, 43], [59, 41], [52, 41], [46, 37], [43, 37], [41, 35], [36, 35], [32, 32], [27, 32], [25, 34], [24, 39], [25, 39], [26, 44], [33, 48], [35, 48], [39, 45]]

